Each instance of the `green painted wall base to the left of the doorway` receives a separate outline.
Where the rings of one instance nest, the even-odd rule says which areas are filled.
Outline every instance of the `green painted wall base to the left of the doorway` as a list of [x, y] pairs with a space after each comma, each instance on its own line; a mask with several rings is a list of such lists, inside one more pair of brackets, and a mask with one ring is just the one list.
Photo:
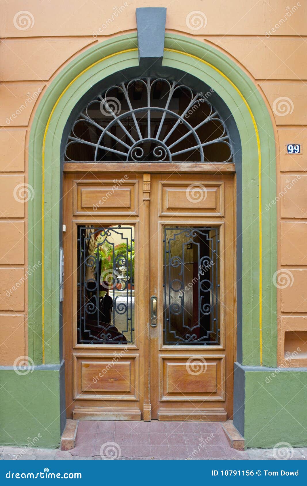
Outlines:
[[57, 448], [61, 438], [59, 369], [34, 369], [19, 375], [12, 367], [2, 367], [0, 410], [1, 445]]

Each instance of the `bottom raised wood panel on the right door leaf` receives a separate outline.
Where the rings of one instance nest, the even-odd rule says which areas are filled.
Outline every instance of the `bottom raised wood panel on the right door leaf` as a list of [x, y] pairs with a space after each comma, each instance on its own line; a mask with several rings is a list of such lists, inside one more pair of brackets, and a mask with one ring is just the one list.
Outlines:
[[224, 357], [160, 356], [161, 400], [224, 399]]

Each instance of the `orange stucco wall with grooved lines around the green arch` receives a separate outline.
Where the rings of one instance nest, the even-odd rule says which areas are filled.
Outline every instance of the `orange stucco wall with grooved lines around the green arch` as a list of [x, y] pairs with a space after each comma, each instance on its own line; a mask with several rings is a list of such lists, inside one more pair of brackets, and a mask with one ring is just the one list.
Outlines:
[[[279, 194], [271, 203], [277, 205], [281, 270], [272, 276], [278, 286], [279, 363], [285, 363], [285, 353], [305, 349], [307, 4], [175, 0], [168, 6], [158, 0], [135, 0], [119, 2], [116, 8], [101, 0], [13, 0], [3, 2], [0, 25], [0, 364], [10, 365], [27, 355], [27, 272], [40, 271], [27, 268], [26, 200], [35, 194], [27, 187], [22, 191], [36, 105], [72, 57], [110, 36], [135, 31], [135, 9], [145, 6], [167, 7], [168, 32], [193, 36], [231, 56], [268, 105], [275, 129]], [[287, 143], [301, 143], [303, 154], [286, 155]], [[301, 352], [291, 364], [286, 361], [291, 366], [306, 363], [307, 352], [306, 359]]]

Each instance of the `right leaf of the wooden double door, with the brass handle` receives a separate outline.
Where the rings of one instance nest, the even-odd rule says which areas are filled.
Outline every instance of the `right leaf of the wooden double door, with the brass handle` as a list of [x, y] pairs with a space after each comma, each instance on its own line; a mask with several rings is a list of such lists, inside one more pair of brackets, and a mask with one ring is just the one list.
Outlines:
[[[152, 176], [152, 182], [150, 280], [151, 295], [157, 295], [158, 300], [157, 327], [150, 329], [152, 418], [159, 420], [226, 420], [227, 417], [232, 417], [233, 365], [235, 361], [234, 176], [206, 175], [203, 177], [190, 174], [157, 174]], [[206, 194], [206, 197], [201, 201], [196, 200], [194, 203], [190, 197], [191, 194], [187, 194], [189, 187], [190, 190], [199, 188], [200, 198], [201, 194]], [[158, 214], [157, 202], [159, 204]], [[181, 231], [185, 227], [200, 228], [198, 232], [207, 235], [206, 238], [210, 242], [214, 242], [215, 251], [218, 252], [217, 260], [213, 265], [217, 278], [214, 292], [218, 302], [217, 314], [214, 314], [213, 317], [217, 318], [218, 334], [214, 336], [213, 340], [208, 339], [204, 343], [205, 345], [202, 345], [200, 330], [197, 330], [198, 326], [195, 325], [198, 322], [198, 315], [200, 315], [197, 314], [197, 308], [199, 299], [201, 299], [198, 294], [199, 282], [202, 279], [199, 272], [195, 271], [195, 267], [197, 267], [196, 262], [200, 262], [202, 258], [202, 250], [200, 240], [198, 243], [200, 253], [193, 250], [194, 246], [197, 246], [197, 240], [193, 240], [194, 243], [185, 241], [184, 231]], [[174, 231], [167, 233], [164, 228], [174, 228]], [[180, 240], [181, 232], [184, 235], [182, 241]], [[169, 243], [171, 240], [176, 240], [174, 235], [179, 238], [177, 246], [175, 243], [172, 243], [173, 246]], [[207, 244], [208, 255], [211, 252], [211, 244]], [[177, 264], [174, 263], [175, 268], [172, 269], [172, 272], [169, 270], [169, 277], [165, 280], [164, 269], [177, 258], [176, 248], [181, 248], [179, 250], [181, 252], [182, 248], [191, 249], [190, 253], [184, 250], [184, 255], [187, 257], [184, 259], [184, 265], [182, 263], [184, 277], [180, 277], [182, 269], [180, 271], [176, 267], [179, 265], [181, 268], [181, 263], [177, 262]], [[169, 257], [166, 256], [165, 251], [169, 253]], [[189, 258], [188, 255], [190, 255]], [[180, 261], [180, 259], [178, 260]], [[191, 264], [191, 268], [193, 266], [193, 271], [189, 270], [189, 264]], [[211, 269], [206, 271], [208, 272], [206, 275], [213, 275]], [[170, 296], [165, 300], [168, 296], [165, 287], [169, 286], [171, 279], [172, 290], [169, 292]], [[181, 312], [178, 311], [179, 317], [172, 314], [173, 321], [170, 322], [170, 315], [167, 312], [164, 315], [164, 309], [168, 310], [174, 303], [178, 303], [176, 295], [182, 293], [182, 288], [187, 296], [183, 297], [183, 301], [188, 317], [183, 318]], [[177, 294], [178, 292], [179, 294]], [[213, 296], [210, 297], [210, 302], [212, 299]], [[174, 309], [177, 312], [179, 308], [178, 304]], [[168, 324], [165, 318], [168, 318]], [[191, 323], [189, 324], [189, 322]], [[173, 338], [171, 339], [172, 344], [167, 344], [165, 328], [170, 324]], [[187, 338], [185, 334], [187, 331], [184, 329], [188, 326], [192, 326], [191, 329], [194, 334], [196, 333], [194, 345], [184, 342]], [[158, 366], [157, 360], [159, 360]], [[203, 372], [199, 374], [198, 366], [204, 368]]]

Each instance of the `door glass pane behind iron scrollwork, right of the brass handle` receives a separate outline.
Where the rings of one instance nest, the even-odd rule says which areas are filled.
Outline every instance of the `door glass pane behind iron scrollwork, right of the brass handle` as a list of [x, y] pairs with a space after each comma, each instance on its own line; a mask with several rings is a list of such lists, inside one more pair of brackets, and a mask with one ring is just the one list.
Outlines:
[[220, 344], [218, 248], [218, 227], [164, 227], [164, 344]]

